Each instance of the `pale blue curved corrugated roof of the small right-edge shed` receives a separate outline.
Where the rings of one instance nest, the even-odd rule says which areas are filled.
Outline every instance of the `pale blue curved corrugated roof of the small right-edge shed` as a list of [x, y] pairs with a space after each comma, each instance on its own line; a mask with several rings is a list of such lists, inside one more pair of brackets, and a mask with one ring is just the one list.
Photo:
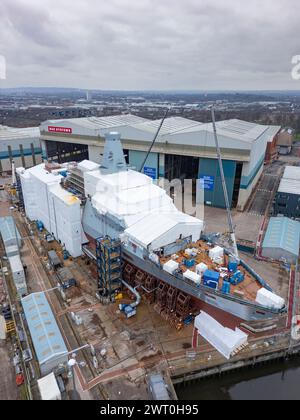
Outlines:
[[263, 242], [263, 248], [280, 248], [299, 255], [300, 223], [287, 217], [272, 217]]

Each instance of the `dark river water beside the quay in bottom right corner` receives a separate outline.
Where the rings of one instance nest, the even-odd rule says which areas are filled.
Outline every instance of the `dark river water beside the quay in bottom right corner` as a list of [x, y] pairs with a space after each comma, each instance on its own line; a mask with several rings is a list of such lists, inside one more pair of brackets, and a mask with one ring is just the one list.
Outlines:
[[300, 361], [243, 370], [177, 387], [179, 400], [300, 400]]

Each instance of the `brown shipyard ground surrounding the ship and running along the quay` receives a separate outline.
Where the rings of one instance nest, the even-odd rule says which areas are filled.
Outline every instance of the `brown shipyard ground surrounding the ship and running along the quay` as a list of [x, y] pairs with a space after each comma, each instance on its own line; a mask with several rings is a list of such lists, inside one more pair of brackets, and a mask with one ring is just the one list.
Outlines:
[[[46, 291], [56, 286], [56, 273], [49, 269], [46, 258], [47, 247], [53, 247], [53, 244], [45, 244], [42, 235], [39, 236], [36, 232], [34, 224], [28, 225], [19, 212], [10, 210], [11, 203], [5, 192], [1, 192], [0, 200], [0, 215], [13, 215], [24, 238], [22, 260], [27, 265], [30, 292]], [[209, 213], [209, 223], [216, 226], [220, 223], [220, 212], [216, 209], [211, 210], [213, 211]], [[256, 241], [263, 216], [249, 216], [245, 213], [241, 217], [243, 217], [241, 220], [244, 220], [241, 222], [241, 228], [245, 232], [241, 239], [247, 240], [252, 234], [251, 240]], [[249, 222], [249, 217], [251, 217], [251, 222]], [[255, 225], [254, 220], [256, 220]], [[31, 229], [34, 230], [33, 236], [30, 235]], [[216, 231], [216, 228], [213, 230]], [[59, 245], [55, 244], [54, 247], [62, 257]], [[243, 258], [259, 274], [268, 279], [277, 293], [287, 301], [289, 300], [293, 284], [289, 281], [289, 273], [280, 264], [257, 261], [247, 254], [244, 254]], [[295, 350], [298, 348], [297, 341], [290, 340], [291, 312], [289, 311], [288, 316], [282, 316], [276, 321], [249, 325], [253, 331], [266, 327], [267, 331], [255, 333], [246, 330], [249, 334], [249, 346], [229, 363], [194, 331], [192, 325], [177, 331], [155, 312], [152, 305], [144, 301], [138, 307], [137, 316], [129, 320], [120, 313], [117, 303], [101, 304], [95, 297], [95, 270], [86, 259], [79, 258], [76, 261], [69, 259], [64, 265], [72, 272], [78, 287], [67, 291], [68, 302], [63, 301], [57, 291], [47, 293], [49, 303], [68, 349], [71, 351], [86, 343], [93, 344], [98, 359], [98, 367], [95, 368], [88, 350], [78, 353], [79, 366], [76, 369], [78, 398], [151, 399], [147, 376], [155, 372], [162, 372], [169, 384], [172, 398], [176, 398], [173, 383], [179, 384], [206, 375], [219, 374], [247, 364], [252, 366], [260, 359], [263, 361], [280, 357], [291, 349], [291, 344], [296, 346]], [[9, 277], [7, 281], [10, 282]], [[13, 290], [10, 291], [15, 299]], [[124, 301], [131, 301], [131, 297], [124, 295]], [[15, 303], [17, 309], [21, 311], [18, 302]], [[208, 305], [203, 305], [203, 309], [224, 325], [235, 327], [241, 324], [241, 320]], [[82, 325], [77, 326], [72, 321], [71, 312], [81, 317]], [[6, 361], [6, 370], [0, 373], [2, 377], [6, 375], [9, 384], [5, 389], [0, 389], [0, 398], [20, 397], [20, 390], [17, 390], [15, 386], [14, 371], [7, 363], [12, 358], [9, 341], [6, 347], [2, 346], [2, 349], [3, 352], [0, 347], [0, 357], [4, 357]], [[101, 356], [103, 349], [106, 350], [105, 357]], [[2, 363], [0, 366], [2, 367]], [[32, 397], [39, 398], [36, 386], [39, 372], [34, 361], [31, 368], [35, 371], [34, 375], [32, 372], [29, 375]], [[72, 398], [72, 384], [68, 382], [66, 375], [64, 379], [67, 390], [64, 398]]]

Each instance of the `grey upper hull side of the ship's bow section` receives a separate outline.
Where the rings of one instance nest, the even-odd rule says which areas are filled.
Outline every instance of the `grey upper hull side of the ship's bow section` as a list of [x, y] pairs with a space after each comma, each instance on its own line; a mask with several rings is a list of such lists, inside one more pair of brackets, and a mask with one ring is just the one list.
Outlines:
[[228, 314], [248, 322], [264, 321], [278, 318], [280, 316], [278, 311], [273, 311], [248, 301], [242, 301], [241, 299], [235, 298], [234, 296], [221, 295], [220, 292], [210, 290], [204, 286], [194, 286], [182, 280], [181, 278], [177, 278], [168, 274], [152, 261], [141, 259], [124, 247], [122, 249], [122, 257], [124, 261], [135, 266], [137, 269], [150, 274], [151, 276], [157, 278], [159, 281], [163, 281], [170, 286], [175, 287], [187, 295], [190, 295], [193, 300], [199, 302], [199, 306], [201, 302], [204, 302], [212, 307], [220, 309]]

